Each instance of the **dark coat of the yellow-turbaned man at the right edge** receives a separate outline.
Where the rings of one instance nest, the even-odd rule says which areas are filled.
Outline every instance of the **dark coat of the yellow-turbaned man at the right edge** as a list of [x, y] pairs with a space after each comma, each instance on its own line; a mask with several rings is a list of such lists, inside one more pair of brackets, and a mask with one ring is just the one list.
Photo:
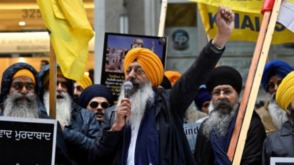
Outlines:
[[270, 157], [294, 157], [294, 125], [286, 121], [282, 128], [264, 141], [262, 165], [270, 165]]

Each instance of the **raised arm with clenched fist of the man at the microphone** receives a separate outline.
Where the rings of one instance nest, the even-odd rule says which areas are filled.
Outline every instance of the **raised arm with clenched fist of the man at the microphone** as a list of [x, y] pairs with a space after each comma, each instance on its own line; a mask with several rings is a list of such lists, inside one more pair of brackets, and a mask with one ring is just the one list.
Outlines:
[[200, 52], [193, 65], [172, 87], [172, 110], [183, 117], [185, 111], [196, 97], [200, 85], [205, 84], [215, 68], [224, 45], [234, 28], [234, 13], [227, 7], [220, 6], [217, 12], [218, 33]]

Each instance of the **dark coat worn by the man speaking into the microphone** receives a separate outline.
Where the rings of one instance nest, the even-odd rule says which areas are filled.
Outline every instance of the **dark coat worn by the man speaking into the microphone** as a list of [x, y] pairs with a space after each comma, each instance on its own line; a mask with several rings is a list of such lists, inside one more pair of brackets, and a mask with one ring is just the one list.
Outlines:
[[[223, 51], [216, 53], [209, 45], [203, 48], [193, 65], [182, 75], [171, 90], [157, 94], [155, 101], [156, 129], [160, 141], [160, 165], [195, 165], [183, 131], [184, 113], [196, 97], [219, 61]], [[113, 113], [113, 112], [111, 112]], [[103, 122], [103, 133], [90, 150], [90, 162], [101, 165], [119, 165], [123, 146], [122, 131], [108, 131], [113, 118]], [[114, 117], [114, 115], [113, 115]]]

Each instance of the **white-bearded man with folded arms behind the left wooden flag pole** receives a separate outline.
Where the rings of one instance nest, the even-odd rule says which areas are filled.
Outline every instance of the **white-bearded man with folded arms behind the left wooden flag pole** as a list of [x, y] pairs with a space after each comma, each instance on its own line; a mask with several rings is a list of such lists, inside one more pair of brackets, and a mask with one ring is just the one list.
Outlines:
[[[56, 119], [62, 126], [63, 137], [76, 165], [88, 165], [88, 152], [99, 133], [94, 113], [73, 102], [73, 80], [56, 70]], [[49, 110], [49, 65], [39, 73], [42, 80], [43, 102]]]

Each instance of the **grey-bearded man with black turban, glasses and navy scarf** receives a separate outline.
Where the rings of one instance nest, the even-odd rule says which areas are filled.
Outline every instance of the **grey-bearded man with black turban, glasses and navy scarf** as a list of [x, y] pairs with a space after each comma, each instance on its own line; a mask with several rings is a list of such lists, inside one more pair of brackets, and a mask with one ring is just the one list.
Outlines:
[[[195, 161], [197, 165], [232, 165], [227, 151], [239, 110], [242, 77], [232, 67], [217, 67], [208, 79], [206, 87], [212, 95], [211, 104], [214, 110], [200, 125]], [[253, 112], [240, 165], [261, 164], [265, 138], [266, 132], [261, 119]]]

